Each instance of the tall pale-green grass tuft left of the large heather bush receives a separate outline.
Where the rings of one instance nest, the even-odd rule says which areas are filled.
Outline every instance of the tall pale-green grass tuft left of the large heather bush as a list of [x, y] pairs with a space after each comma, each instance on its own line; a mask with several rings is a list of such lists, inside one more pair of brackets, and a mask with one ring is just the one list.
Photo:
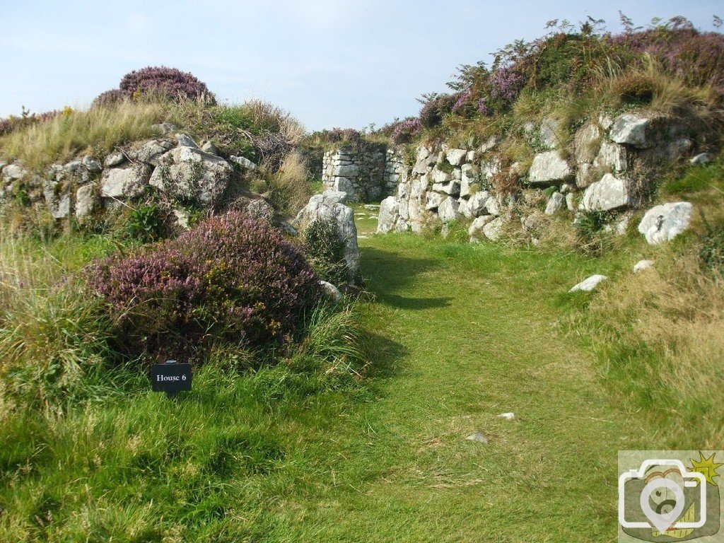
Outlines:
[[105, 386], [88, 379], [109, 354], [110, 326], [98, 302], [66, 279], [75, 258], [58, 258], [33, 240], [4, 236], [0, 243], [4, 404], [54, 411]]

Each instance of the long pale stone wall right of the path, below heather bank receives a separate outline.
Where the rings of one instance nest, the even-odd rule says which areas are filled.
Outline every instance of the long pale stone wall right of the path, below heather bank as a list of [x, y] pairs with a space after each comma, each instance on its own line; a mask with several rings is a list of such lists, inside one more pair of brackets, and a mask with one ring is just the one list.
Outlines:
[[644, 114], [601, 116], [564, 142], [553, 119], [529, 124], [526, 136], [529, 165], [510, 163], [503, 135], [473, 148], [419, 146], [410, 171], [395, 172], [397, 192], [382, 201], [378, 232], [445, 231], [464, 222], [471, 241], [515, 231], [536, 243], [555, 217], [573, 222], [600, 212], [610, 230], [623, 233], [665, 167], [711, 159], [701, 127]]

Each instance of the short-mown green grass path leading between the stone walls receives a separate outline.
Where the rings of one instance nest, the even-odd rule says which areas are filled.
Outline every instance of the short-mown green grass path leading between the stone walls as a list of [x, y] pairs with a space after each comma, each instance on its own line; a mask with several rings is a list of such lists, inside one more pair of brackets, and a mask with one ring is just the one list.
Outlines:
[[617, 450], [649, 432], [610, 403], [557, 324], [586, 262], [408, 235], [361, 246], [387, 369], [379, 398], [350, 415], [342, 495], [318, 504], [306, 536], [615, 540]]

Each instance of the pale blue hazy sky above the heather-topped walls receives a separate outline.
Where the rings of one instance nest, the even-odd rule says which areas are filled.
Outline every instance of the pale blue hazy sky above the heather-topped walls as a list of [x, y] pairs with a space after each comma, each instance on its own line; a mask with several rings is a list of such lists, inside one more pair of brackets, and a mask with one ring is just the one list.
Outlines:
[[0, 0], [0, 117], [87, 107], [127, 72], [164, 65], [308, 130], [379, 127], [549, 20], [591, 15], [617, 31], [619, 9], [636, 25], [683, 15], [703, 30], [724, 16], [721, 0]]

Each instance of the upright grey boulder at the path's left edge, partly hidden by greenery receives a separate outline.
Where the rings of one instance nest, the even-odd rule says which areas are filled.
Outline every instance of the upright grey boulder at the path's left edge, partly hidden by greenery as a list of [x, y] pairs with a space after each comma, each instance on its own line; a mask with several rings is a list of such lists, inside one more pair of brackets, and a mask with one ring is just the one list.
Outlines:
[[359, 248], [357, 246], [357, 227], [352, 208], [329, 198], [329, 195], [313, 195], [306, 206], [297, 214], [292, 226], [300, 232], [312, 222], [321, 220], [332, 222], [337, 226], [337, 240], [344, 244], [345, 263], [347, 264], [348, 281], [356, 284], [360, 280]]

